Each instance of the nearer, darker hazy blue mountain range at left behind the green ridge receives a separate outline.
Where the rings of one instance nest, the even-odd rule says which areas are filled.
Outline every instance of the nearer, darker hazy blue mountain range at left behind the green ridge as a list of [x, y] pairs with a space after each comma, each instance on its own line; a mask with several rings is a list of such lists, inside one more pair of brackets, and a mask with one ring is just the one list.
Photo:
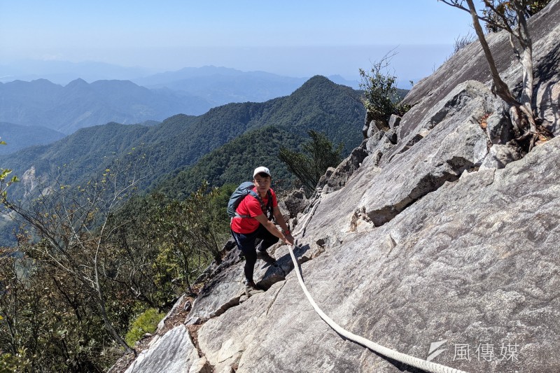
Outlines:
[[200, 115], [213, 105], [186, 92], [149, 90], [129, 80], [76, 79], [66, 86], [39, 79], [0, 83], [0, 121], [41, 126], [64, 134], [108, 122], [161, 121], [184, 113]]

